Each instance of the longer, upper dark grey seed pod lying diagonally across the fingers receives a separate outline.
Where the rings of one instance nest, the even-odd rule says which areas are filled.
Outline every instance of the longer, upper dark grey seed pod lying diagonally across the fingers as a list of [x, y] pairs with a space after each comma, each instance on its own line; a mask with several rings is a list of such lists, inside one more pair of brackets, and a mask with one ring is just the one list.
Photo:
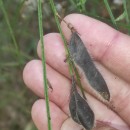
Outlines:
[[109, 101], [110, 93], [107, 84], [94, 65], [89, 53], [84, 46], [82, 40], [76, 32], [72, 33], [72, 37], [69, 44], [69, 50], [71, 58], [75, 64], [84, 72], [85, 79], [87, 79], [89, 85], [98, 92], [103, 99]]

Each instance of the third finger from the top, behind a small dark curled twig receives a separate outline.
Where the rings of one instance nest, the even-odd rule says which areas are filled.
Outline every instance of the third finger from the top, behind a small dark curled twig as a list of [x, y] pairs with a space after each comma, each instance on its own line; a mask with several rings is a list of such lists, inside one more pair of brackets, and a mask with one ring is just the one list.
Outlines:
[[[68, 109], [66, 104], [69, 101], [67, 99], [69, 99], [68, 91], [70, 91], [70, 82], [50, 66], [47, 65], [46, 68], [47, 78], [53, 88], [53, 91], [49, 89], [50, 100], [55, 102], [60, 108], [64, 108], [66, 112], [68, 111], [66, 110]], [[33, 60], [26, 65], [23, 72], [23, 79], [25, 84], [34, 93], [40, 97], [44, 97], [42, 62], [40, 60]]]

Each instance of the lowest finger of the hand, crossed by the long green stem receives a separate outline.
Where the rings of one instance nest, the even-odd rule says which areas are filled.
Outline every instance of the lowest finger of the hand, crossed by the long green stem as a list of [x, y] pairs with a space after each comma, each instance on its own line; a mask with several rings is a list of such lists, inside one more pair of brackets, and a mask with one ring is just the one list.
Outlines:
[[[47, 114], [45, 101], [40, 99], [36, 101], [32, 107], [32, 119], [38, 130], [47, 130]], [[60, 110], [54, 103], [50, 102], [51, 124], [53, 130], [61, 130], [63, 122], [67, 119], [67, 115]]]

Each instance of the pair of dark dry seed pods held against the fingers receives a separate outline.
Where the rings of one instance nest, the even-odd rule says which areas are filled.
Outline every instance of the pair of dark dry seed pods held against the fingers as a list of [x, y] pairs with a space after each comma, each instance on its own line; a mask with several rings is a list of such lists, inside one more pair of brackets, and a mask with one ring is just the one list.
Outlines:
[[[93, 89], [101, 98], [109, 101], [110, 93], [107, 84], [76, 32], [72, 33], [69, 51], [75, 65], [84, 72], [84, 77], [88, 81], [91, 89]], [[91, 130], [94, 127], [94, 113], [87, 101], [78, 93], [74, 77], [72, 77], [69, 109], [72, 119], [78, 124], [81, 124], [86, 130]]]

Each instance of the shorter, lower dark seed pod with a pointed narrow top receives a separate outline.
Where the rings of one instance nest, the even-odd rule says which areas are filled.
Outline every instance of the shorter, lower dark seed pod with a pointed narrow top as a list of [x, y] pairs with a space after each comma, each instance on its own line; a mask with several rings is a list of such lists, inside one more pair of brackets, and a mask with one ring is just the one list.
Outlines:
[[94, 113], [88, 103], [79, 95], [76, 89], [74, 77], [72, 77], [71, 97], [69, 109], [72, 119], [82, 125], [86, 130], [94, 126]]

